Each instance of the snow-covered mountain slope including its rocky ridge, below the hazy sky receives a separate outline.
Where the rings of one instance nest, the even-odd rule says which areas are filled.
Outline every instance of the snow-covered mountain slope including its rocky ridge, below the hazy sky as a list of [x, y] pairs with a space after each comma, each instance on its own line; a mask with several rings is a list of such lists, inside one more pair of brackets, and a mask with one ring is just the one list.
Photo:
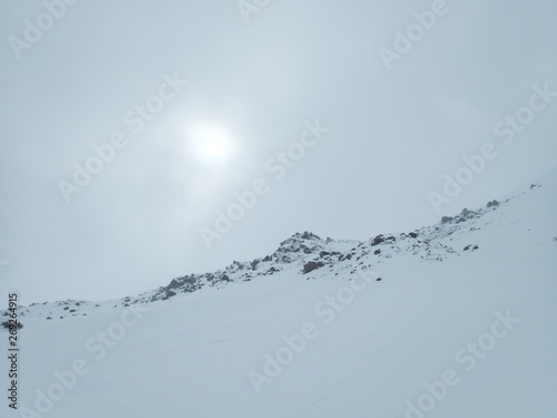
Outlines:
[[551, 173], [412, 232], [22, 307], [13, 416], [557, 416], [556, 210]]

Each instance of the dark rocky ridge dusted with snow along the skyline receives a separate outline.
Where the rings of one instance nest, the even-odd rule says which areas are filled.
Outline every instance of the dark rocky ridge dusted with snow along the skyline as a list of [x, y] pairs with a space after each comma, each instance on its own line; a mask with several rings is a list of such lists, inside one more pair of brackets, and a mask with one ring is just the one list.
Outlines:
[[[547, 176], [546, 176], [547, 177]], [[333, 240], [305, 231], [296, 232], [282, 241], [278, 247], [265, 256], [250, 262], [234, 261], [224, 269], [205, 273], [192, 273], [177, 276], [166, 285], [140, 293], [136, 297], [91, 302], [85, 300], [65, 300], [56, 302], [31, 303], [19, 307], [22, 320], [33, 319], [56, 320], [87, 315], [96, 310], [129, 307], [135, 303], [153, 303], [168, 301], [180, 294], [205, 289], [221, 289], [228, 283], [252, 281], [256, 278], [273, 275], [285, 269], [293, 269], [296, 274], [307, 280], [314, 279], [313, 273], [326, 270], [338, 276], [349, 276], [358, 272], [372, 270], [373, 266], [397, 256], [412, 256], [420, 262], [442, 262], [448, 257], [462, 256], [466, 253], [481, 251], [473, 242], [462, 247], [456, 247], [453, 237], [466, 232], [480, 230], [486, 224], [481, 220], [488, 214], [509, 210], [514, 201], [541, 187], [539, 182], [520, 187], [500, 202], [489, 201], [476, 210], [463, 208], [453, 216], [442, 216], [433, 225], [422, 226], [407, 233], [383, 233], [367, 241]], [[491, 221], [492, 222], [492, 221]], [[6, 317], [7, 310], [0, 312]]]

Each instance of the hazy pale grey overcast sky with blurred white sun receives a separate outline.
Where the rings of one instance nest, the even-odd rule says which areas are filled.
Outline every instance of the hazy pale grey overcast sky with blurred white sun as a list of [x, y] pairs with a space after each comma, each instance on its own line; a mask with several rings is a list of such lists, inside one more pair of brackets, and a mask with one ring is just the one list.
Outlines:
[[[135, 294], [265, 255], [299, 231], [411, 231], [554, 167], [557, 98], [522, 109], [512, 142], [494, 127], [529, 107], [535, 86], [557, 91], [557, 2], [439, 1], [260, 0], [245, 17], [235, 0], [81, 0], [50, 12], [3, 1], [3, 291], [23, 303]], [[442, 14], [424, 14], [420, 33], [413, 13], [432, 8]], [[410, 51], [399, 39], [397, 52], [397, 30], [414, 37]], [[385, 49], [398, 54], [388, 65]], [[136, 106], [148, 100], [159, 113], [140, 126]], [[316, 119], [330, 130], [293, 146]], [[67, 203], [59, 182], [120, 134], [125, 146]], [[438, 213], [428, 193], [486, 143], [497, 158]], [[268, 161], [289, 147], [305, 155], [275, 179]], [[257, 178], [268, 193], [208, 250], [199, 229]]]

